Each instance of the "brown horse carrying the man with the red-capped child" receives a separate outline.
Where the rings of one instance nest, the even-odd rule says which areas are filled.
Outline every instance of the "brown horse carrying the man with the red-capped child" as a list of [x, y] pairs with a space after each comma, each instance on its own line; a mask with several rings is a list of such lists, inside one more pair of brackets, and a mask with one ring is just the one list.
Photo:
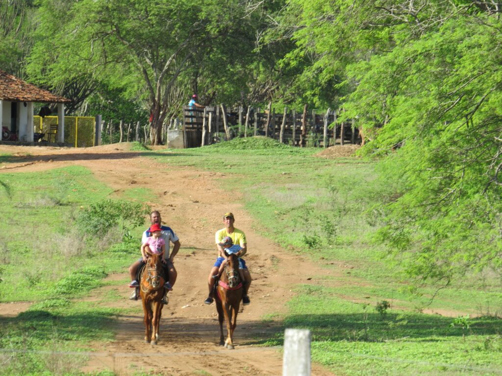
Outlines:
[[162, 315], [161, 303], [164, 296], [164, 271], [159, 255], [151, 255], [141, 276], [140, 296], [145, 312], [145, 342], [157, 344], [159, 339], [159, 323]]

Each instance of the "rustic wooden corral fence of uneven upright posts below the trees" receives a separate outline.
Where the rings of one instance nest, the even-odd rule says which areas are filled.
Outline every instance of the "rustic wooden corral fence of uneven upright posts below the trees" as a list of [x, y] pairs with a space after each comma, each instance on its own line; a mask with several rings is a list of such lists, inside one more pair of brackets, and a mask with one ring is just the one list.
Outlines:
[[[229, 110], [224, 105], [183, 107], [185, 147], [198, 147], [236, 136], [267, 136], [293, 146], [328, 147], [356, 143], [355, 119], [337, 121], [338, 111], [284, 109], [282, 113], [254, 107]], [[334, 127], [330, 127], [331, 124]]]

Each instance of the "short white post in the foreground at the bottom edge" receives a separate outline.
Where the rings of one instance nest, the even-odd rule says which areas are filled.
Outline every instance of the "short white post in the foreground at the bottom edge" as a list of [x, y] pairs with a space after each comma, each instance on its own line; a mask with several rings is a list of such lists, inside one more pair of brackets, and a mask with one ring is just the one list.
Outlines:
[[284, 332], [283, 376], [310, 376], [310, 330]]

